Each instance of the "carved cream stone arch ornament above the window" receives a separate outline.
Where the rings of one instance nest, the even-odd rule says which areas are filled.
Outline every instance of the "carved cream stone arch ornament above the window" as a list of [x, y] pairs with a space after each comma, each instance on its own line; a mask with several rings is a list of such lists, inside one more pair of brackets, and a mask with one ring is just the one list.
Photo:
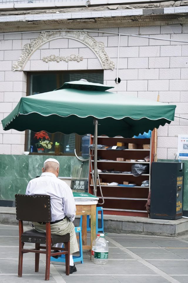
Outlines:
[[31, 43], [24, 45], [24, 49], [22, 51], [19, 60], [12, 67], [13, 71], [22, 71], [29, 57], [31, 57], [31, 55], [39, 47], [41, 47], [46, 42], [58, 38], [70, 38], [82, 42], [95, 53], [104, 70], [114, 69], [115, 64], [114, 62], [110, 61], [109, 56], [105, 52], [103, 42], [96, 41], [92, 36], [88, 34], [88, 32], [58, 30], [58, 31], [50, 31], [50, 32], [41, 32], [36, 39], [31, 41]]

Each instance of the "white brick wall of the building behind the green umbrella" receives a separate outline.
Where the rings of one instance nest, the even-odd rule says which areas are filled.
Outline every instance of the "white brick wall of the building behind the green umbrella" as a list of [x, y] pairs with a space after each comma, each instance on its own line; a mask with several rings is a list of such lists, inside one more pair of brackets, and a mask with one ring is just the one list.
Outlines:
[[[103, 42], [105, 51], [115, 63], [114, 70], [104, 70], [104, 83], [112, 85], [114, 92], [125, 96], [146, 98], [176, 104], [176, 115], [188, 117], [188, 43], [172, 42], [188, 38], [188, 26], [169, 24], [164, 26], [101, 28], [120, 32], [119, 72], [117, 75], [118, 35], [95, 32], [94, 39]], [[129, 34], [149, 35], [145, 38]], [[92, 33], [90, 34], [92, 35]], [[13, 72], [12, 65], [21, 55], [25, 44], [39, 36], [39, 32], [5, 34], [0, 38], [0, 120], [26, 95], [28, 71], [97, 70], [102, 69], [95, 53], [83, 42], [73, 39], [55, 39], [38, 48], [24, 66], [24, 72]], [[160, 40], [164, 39], [164, 40]], [[83, 61], [43, 62], [50, 55], [80, 55]], [[158, 134], [158, 158], [174, 158], [177, 152], [177, 135], [188, 131], [188, 120], [175, 118], [170, 124], [160, 126]], [[3, 131], [0, 124], [0, 154], [23, 154], [24, 132]]]

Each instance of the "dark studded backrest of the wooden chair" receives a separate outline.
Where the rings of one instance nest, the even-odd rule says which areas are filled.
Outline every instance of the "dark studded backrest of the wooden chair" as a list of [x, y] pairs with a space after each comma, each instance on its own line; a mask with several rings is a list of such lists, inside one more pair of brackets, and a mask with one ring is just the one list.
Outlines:
[[49, 195], [15, 195], [16, 219], [31, 222], [50, 222]]

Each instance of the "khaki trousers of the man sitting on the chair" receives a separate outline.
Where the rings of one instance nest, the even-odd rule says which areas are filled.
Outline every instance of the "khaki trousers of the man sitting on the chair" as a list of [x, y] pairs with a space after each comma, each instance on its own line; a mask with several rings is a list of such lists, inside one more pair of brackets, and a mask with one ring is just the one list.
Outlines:
[[[38, 222], [33, 222], [33, 226], [38, 232], [46, 232], [46, 224], [39, 224]], [[51, 234], [56, 234], [63, 236], [67, 233], [70, 233], [70, 254], [73, 254], [79, 251], [78, 242], [76, 239], [76, 233], [74, 230], [74, 224], [70, 221], [69, 218], [65, 218], [58, 223], [54, 223], [50, 225]]]

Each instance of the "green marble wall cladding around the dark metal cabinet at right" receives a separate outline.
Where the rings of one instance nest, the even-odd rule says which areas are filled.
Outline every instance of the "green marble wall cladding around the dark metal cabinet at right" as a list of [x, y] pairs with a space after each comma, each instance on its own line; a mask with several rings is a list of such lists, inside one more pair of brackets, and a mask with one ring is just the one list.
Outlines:
[[[158, 159], [160, 162], [179, 162], [174, 159]], [[180, 160], [184, 162], [184, 188], [183, 188], [183, 210], [188, 210], [188, 160]]]

